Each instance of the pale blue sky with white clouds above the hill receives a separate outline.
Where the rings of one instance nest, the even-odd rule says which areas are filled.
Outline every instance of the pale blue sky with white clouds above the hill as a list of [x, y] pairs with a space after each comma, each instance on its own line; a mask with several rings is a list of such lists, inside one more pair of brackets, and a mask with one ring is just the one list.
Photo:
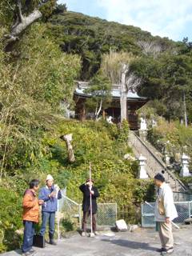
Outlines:
[[192, 41], [192, 0], [58, 0], [73, 10], [138, 26], [153, 35]]

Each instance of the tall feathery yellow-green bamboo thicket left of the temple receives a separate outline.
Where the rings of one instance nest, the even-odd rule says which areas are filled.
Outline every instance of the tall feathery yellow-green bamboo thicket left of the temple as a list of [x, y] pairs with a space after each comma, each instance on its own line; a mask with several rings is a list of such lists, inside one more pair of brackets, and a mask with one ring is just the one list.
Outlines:
[[61, 117], [61, 99], [73, 102], [80, 59], [62, 53], [45, 30], [33, 24], [14, 60], [0, 42], [0, 178], [49, 155], [42, 134]]

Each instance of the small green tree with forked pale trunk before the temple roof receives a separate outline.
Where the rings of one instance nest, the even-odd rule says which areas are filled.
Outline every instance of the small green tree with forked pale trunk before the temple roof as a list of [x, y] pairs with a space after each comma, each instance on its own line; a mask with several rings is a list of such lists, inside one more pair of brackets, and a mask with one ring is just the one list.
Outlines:
[[111, 83], [101, 72], [96, 74], [90, 81], [90, 88], [86, 89], [91, 98], [86, 101], [86, 106], [94, 110], [94, 117], [98, 118], [102, 109], [111, 102]]

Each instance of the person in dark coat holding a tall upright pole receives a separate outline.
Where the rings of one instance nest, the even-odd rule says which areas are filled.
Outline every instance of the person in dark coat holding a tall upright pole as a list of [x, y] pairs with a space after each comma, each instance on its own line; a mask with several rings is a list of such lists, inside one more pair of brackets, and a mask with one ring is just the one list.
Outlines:
[[87, 178], [86, 183], [79, 186], [79, 190], [81, 190], [83, 194], [82, 237], [86, 236], [86, 222], [89, 216], [92, 218], [91, 234], [96, 235], [98, 234], [96, 231], [96, 214], [98, 210], [97, 198], [99, 197], [98, 189], [94, 186], [94, 180], [92, 178]]

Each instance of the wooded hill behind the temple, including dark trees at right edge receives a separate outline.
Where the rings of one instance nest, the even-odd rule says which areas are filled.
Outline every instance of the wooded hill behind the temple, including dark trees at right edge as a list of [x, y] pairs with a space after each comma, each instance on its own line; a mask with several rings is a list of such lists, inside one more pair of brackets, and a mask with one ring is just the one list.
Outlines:
[[81, 57], [82, 80], [90, 80], [98, 72], [103, 54], [128, 52], [136, 59], [131, 69], [142, 79], [139, 94], [153, 100], [154, 110], [170, 120], [182, 119], [185, 93], [192, 121], [192, 44], [187, 38], [174, 42], [138, 27], [70, 11], [54, 14], [46, 26], [46, 33], [64, 52]]

